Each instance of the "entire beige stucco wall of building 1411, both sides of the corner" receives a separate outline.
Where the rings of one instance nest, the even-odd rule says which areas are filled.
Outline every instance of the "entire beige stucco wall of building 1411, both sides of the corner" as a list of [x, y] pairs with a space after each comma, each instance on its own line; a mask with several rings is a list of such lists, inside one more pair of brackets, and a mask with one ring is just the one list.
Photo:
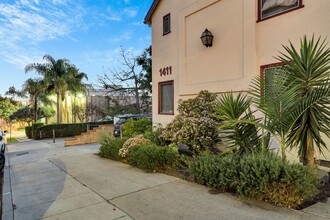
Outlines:
[[[219, 93], [248, 89], [260, 66], [278, 62], [289, 40], [298, 47], [305, 34], [330, 36], [330, 0], [303, 0], [303, 8], [261, 22], [257, 0], [166, 0], [152, 16], [153, 120], [167, 124], [174, 116], [158, 114], [158, 83], [174, 80], [174, 109], [179, 99], [207, 89]], [[171, 13], [171, 33], [163, 36], [163, 16]], [[213, 46], [200, 35], [208, 28]], [[159, 69], [172, 67], [172, 75]], [[327, 140], [330, 148], [330, 140]], [[295, 154], [295, 153], [293, 153]], [[323, 156], [318, 156], [324, 158]], [[330, 153], [325, 158], [330, 159]]]

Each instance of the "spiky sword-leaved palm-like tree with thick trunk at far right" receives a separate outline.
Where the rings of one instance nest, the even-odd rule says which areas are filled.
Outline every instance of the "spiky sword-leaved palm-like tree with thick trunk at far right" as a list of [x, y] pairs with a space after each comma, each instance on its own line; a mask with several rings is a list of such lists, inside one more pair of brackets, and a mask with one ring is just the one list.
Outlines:
[[304, 164], [314, 166], [316, 150], [327, 149], [321, 133], [330, 137], [330, 48], [325, 40], [314, 36], [300, 41], [300, 51], [293, 44], [284, 46], [278, 60], [285, 64], [288, 81], [293, 83], [298, 94], [297, 106], [305, 109], [294, 121], [288, 135], [288, 145], [297, 146]]

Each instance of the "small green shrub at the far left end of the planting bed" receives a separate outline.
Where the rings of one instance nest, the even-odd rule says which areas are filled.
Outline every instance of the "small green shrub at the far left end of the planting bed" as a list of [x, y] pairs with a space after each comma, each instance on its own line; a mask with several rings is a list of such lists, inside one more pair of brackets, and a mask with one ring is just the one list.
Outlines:
[[111, 138], [110, 136], [103, 137], [100, 144], [99, 156], [111, 160], [121, 160], [119, 149], [123, 147], [126, 138]]

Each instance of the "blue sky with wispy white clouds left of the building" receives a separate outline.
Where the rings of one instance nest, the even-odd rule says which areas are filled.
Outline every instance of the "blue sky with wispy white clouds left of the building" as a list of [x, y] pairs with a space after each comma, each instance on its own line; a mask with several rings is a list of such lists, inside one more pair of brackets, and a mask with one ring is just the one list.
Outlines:
[[67, 58], [97, 83], [119, 66], [123, 47], [135, 55], [151, 44], [143, 19], [152, 0], [1, 0], [0, 94], [38, 75], [25, 74], [45, 54]]

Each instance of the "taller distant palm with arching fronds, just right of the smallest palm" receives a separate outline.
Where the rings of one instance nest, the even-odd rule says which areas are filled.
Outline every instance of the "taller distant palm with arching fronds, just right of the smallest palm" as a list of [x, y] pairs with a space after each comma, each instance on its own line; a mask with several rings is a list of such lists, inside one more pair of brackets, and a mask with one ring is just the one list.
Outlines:
[[[71, 86], [72, 68], [74, 67], [67, 59], [55, 60], [50, 55], [44, 55], [46, 63], [32, 63], [25, 67], [25, 72], [36, 71], [43, 76], [44, 82], [48, 85], [48, 91], [56, 94], [57, 124], [61, 122], [60, 100], [63, 100], [65, 93]], [[77, 81], [76, 81], [77, 82]]]

